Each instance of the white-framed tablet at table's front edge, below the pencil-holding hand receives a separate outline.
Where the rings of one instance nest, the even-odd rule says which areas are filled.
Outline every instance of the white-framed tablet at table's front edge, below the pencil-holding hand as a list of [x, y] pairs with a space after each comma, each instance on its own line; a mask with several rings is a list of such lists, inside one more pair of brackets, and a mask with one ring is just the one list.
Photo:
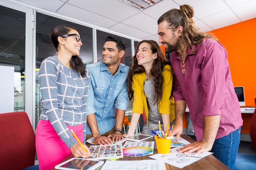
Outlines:
[[57, 170], [95, 170], [101, 166], [104, 161], [92, 161], [83, 158], [71, 158], [55, 166]]

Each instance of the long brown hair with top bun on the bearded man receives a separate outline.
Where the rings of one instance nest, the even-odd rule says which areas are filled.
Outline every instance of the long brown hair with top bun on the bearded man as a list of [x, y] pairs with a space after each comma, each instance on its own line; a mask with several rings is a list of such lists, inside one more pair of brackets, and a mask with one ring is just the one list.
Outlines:
[[195, 45], [195, 52], [197, 51], [197, 45], [202, 42], [205, 38], [211, 38], [213, 40], [217, 40], [212, 34], [208, 34], [202, 32], [199, 29], [192, 17], [194, 15], [193, 7], [189, 5], [180, 5], [180, 9], [171, 9], [164, 13], [158, 20], [157, 24], [160, 24], [164, 21], [168, 23], [170, 29], [175, 31], [178, 26], [183, 27], [182, 35], [180, 37], [179, 44], [177, 46], [177, 50], [180, 53], [180, 58], [182, 61], [182, 73], [185, 73], [185, 60], [186, 60], [186, 49], [190, 47], [192, 50], [192, 45]]

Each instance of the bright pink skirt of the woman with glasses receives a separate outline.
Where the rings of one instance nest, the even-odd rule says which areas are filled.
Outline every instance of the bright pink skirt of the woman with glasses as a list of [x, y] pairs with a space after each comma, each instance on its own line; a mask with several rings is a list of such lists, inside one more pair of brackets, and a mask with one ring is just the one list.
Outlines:
[[[67, 126], [83, 141], [83, 124]], [[52, 170], [71, 154], [70, 148], [58, 136], [50, 121], [39, 120], [36, 128], [36, 154], [40, 170]]]

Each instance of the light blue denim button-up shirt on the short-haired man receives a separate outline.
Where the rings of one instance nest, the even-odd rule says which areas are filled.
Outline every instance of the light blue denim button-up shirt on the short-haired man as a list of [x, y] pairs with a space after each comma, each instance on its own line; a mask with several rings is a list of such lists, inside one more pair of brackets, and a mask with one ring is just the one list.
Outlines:
[[[115, 127], [115, 108], [119, 110], [127, 109], [126, 77], [129, 67], [120, 63], [114, 76], [102, 61], [86, 67], [89, 69], [91, 77], [87, 99], [87, 115], [95, 113], [99, 133], [102, 135]], [[88, 124], [87, 134], [92, 135]]]

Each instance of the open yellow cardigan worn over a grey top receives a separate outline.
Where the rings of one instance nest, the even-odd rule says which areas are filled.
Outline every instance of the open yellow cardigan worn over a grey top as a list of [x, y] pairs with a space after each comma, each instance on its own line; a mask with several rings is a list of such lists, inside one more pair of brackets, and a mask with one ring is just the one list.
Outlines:
[[[170, 98], [173, 76], [171, 74], [171, 66], [165, 65], [163, 69], [163, 96], [158, 104], [158, 111], [160, 114], [169, 114], [170, 122], [175, 119], [174, 111], [174, 98]], [[146, 73], [139, 73], [132, 76], [132, 91], [133, 91], [133, 106], [132, 113], [143, 113], [143, 109], [146, 115], [146, 121], [148, 124], [148, 105], [146, 95], [144, 93], [144, 82], [146, 81]]]

